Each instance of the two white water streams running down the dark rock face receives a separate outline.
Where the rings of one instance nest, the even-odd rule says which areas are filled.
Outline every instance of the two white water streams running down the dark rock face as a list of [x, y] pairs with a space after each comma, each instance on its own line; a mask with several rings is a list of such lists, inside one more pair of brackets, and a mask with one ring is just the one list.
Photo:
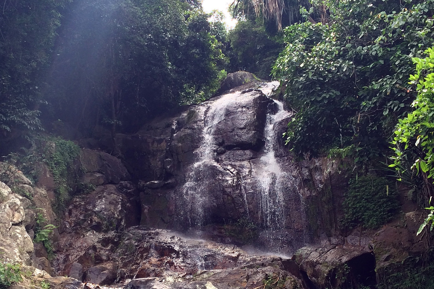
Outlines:
[[[261, 90], [267, 96], [273, 88], [279, 85], [274, 81], [264, 85]], [[204, 129], [202, 132], [201, 146], [194, 151], [196, 162], [191, 166], [186, 175], [186, 182], [182, 193], [186, 202], [188, 221], [191, 226], [200, 227], [204, 222], [208, 202], [206, 189], [209, 185], [210, 170], [221, 169], [221, 165], [215, 161], [217, 145], [215, 145], [214, 132], [217, 124], [224, 120], [226, 108], [229, 104], [242, 103], [241, 92], [225, 94], [215, 101], [209, 101], [207, 111], [204, 115]], [[284, 214], [284, 192], [289, 185], [289, 175], [279, 165], [276, 158], [275, 148], [277, 147], [276, 125], [289, 117], [289, 113], [283, 109], [283, 103], [274, 100], [278, 107], [275, 114], [267, 114], [264, 130], [265, 146], [259, 162], [253, 168], [253, 177], [258, 184], [257, 192], [260, 199], [260, 216], [263, 225], [268, 229], [279, 229], [285, 225]], [[241, 182], [243, 176], [241, 175]], [[241, 188], [241, 191], [243, 189]], [[243, 193], [245, 210], [249, 214], [246, 192]], [[249, 216], [247, 216], [249, 217]]]

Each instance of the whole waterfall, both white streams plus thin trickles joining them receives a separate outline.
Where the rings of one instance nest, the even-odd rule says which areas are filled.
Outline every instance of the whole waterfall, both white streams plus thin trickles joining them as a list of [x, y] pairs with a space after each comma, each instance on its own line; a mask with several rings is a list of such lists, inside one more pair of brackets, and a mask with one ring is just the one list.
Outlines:
[[[270, 96], [273, 88], [279, 85], [279, 82], [264, 84], [261, 91]], [[290, 116], [289, 112], [283, 109], [283, 103], [274, 101], [277, 109], [274, 113], [266, 115], [266, 123], [263, 130], [263, 140], [265, 145], [260, 152], [256, 152], [256, 157], [251, 160], [250, 173], [242, 172], [242, 168], [228, 169], [216, 161], [216, 149], [214, 134], [217, 125], [225, 119], [227, 107], [236, 105], [242, 107], [248, 103], [247, 94], [235, 92], [225, 94], [214, 101], [208, 101], [204, 110], [204, 127], [202, 130], [202, 141], [198, 149], [194, 151], [194, 163], [186, 173], [186, 182], [184, 183], [181, 194], [184, 198], [184, 215], [187, 215], [189, 225], [192, 227], [201, 227], [204, 224], [205, 217], [209, 213], [207, 208], [214, 205], [216, 200], [207, 193], [207, 190], [224, 189], [221, 187], [221, 180], [215, 178], [218, 173], [233, 171], [233, 175], [239, 177], [241, 182], [240, 197], [244, 206], [245, 216], [250, 219], [250, 211], [255, 215], [256, 222], [259, 222], [266, 230], [277, 230], [285, 227], [285, 206], [286, 199], [289, 198], [290, 192], [293, 192], [293, 178], [285, 172], [286, 168], [279, 164], [279, 158], [276, 156], [278, 147], [278, 137], [276, 130], [278, 125]], [[250, 104], [251, 105], [251, 104]], [[237, 178], [238, 178], [237, 177]], [[243, 182], [250, 182], [250, 191], [243, 188]], [[214, 187], [211, 187], [214, 186]], [[258, 207], [251, 207], [247, 200], [248, 196], [254, 196]], [[214, 207], [215, 208], [215, 207]], [[259, 211], [258, 211], [259, 210]], [[259, 219], [260, 220], [259, 220]]]

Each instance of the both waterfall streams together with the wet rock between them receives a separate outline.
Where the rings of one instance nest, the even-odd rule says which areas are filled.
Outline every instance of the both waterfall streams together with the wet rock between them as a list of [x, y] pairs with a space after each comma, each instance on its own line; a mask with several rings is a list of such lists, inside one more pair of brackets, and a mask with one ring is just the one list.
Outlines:
[[[278, 85], [278, 82], [268, 83], [260, 90], [270, 96]], [[294, 224], [299, 219], [297, 217], [304, 214], [291, 170], [288, 170], [288, 153], [280, 148], [276, 133], [290, 113], [283, 109], [283, 103], [259, 95], [253, 89], [225, 94], [196, 109], [198, 120], [203, 119], [204, 125], [200, 146], [194, 150], [194, 163], [187, 170], [186, 182], [179, 191], [184, 215], [181, 221], [189, 227], [199, 228], [216, 220], [226, 222], [229, 218], [230, 222], [235, 222], [247, 219], [266, 233], [265, 237], [260, 237], [262, 244], [281, 248], [286, 246], [282, 242], [288, 238], [298, 238], [288, 237], [288, 234], [296, 227], [300, 228]], [[260, 102], [253, 104], [252, 101]], [[256, 110], [252, 108], [255, 105], [259, 107]], [[272, 109], [268, 108], [272, 112], [266, 113], [267, 105], [273, 105]], [[243, 114], [262, 118], [244, 118]], [[258, 123], [257, 127], [251, 124], [253, 122]], [[246, 127], [249, 127], [248, 132], [237, 133]], [[263, 146], [250, 143], [239, 147], [226, 143], [225, 139], [224, 144], [220, 139], [216, 141], [216, 137], [222, 135], [229, 137], [229, 141], [232, 136], [237, 138], [235, 143], [242, 143], [238, 135], [248, 135], [251, 141], [255, 129], [259, 129], [258, 140], [264, 143]], [[217, 149], [220, 149], [219, 154]], [[225, 213], [227, 208], [228, 213]], [[234, 211], [239, 213], [229, 214]]]

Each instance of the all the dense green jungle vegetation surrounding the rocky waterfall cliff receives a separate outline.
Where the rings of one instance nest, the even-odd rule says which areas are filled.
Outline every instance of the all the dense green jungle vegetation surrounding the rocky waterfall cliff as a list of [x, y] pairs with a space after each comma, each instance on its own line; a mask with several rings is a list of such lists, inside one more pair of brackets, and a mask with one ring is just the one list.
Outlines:
[[[236, 0], [230, 10], [238, 24], [227, 32], [197, 0], [5, 0], [0, 152], [28, 149], [35, 132], [58, 126], [114, 140], [247, 70], [280, 81], [293, 111], [284, 137], [299, 159], [334, 156], [351, 168], [345, 226], [393, 218], [402, 185], [429, 206], [434, 0]], [[67, 162], [68, 153], [46, 158], [60, 168], [60, 196], [62, 168], [78, 154], [72, 143], [63, 149], [74, 153]], [[424, 227], [432, 220], [431, 211]]]

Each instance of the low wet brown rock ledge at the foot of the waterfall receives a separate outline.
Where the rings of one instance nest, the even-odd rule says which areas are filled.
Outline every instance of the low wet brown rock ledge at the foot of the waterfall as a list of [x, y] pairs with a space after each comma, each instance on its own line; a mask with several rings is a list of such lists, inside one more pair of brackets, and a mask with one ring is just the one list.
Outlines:
[[[95, 256], [98, 250], [95, 248]], [[114, 250], [105, 254], [103, 262], [90, 266], [79, 258], [65, 270], [79, 280], [116, 288], [253, 289], [279, 280], [281, 288], [309, 288], [293, 260], [250, 255], [233, 245], [191, 239], [173, 231], [130, 227]]]

